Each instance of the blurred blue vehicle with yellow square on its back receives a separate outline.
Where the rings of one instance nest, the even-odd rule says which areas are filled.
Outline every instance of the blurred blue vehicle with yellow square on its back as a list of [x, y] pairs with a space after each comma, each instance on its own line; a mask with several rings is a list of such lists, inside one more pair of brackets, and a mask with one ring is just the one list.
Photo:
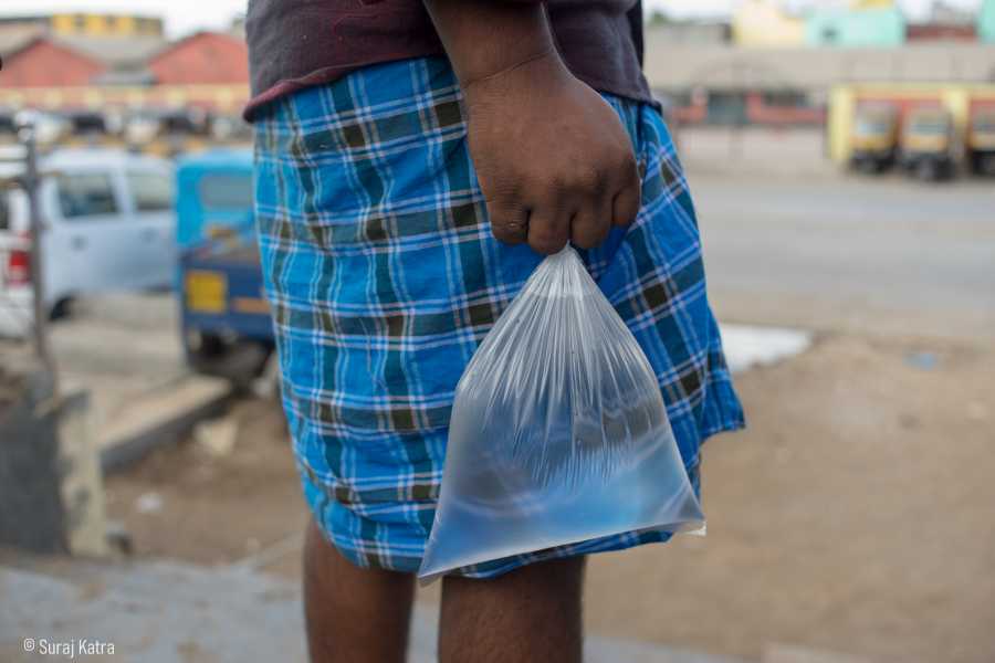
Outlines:
[[273, 351], [252, 215], [252, 152], [216, 150], [177, 166], [182, 339], [198, 372], [245, 386]]

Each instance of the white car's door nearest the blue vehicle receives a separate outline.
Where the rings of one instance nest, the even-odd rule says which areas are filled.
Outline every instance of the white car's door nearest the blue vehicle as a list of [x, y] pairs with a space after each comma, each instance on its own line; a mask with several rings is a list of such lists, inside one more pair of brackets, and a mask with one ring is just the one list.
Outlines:
[[125, 171], [128, 223], [135, 230], [130, 281], [166, 288], [176, 274], [176, 186], [172, 169], [143, 165]]

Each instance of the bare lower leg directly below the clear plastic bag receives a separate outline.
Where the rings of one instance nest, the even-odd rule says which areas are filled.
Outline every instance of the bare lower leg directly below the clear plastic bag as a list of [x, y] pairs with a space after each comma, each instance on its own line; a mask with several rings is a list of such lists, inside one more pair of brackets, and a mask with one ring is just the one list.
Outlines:
[[447, 577], [441, 663], [579, 663], [584, 558], [531, 565], [492, 580]]

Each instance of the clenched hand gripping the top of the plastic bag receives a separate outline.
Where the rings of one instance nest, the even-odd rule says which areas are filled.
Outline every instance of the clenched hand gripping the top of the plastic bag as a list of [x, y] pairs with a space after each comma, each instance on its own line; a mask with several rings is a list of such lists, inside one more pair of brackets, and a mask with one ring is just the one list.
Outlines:
[[463, 85], [470, 155], [491, 231], [543, 254], [590, 249], [639, 211], [621, 122], [555, 52]]

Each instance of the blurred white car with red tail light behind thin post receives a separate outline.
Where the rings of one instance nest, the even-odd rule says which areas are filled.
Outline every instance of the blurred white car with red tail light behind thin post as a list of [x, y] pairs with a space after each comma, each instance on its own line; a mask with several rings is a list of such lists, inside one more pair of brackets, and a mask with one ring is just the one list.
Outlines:
[[[59, 150], [39, 164], [44, 305], [73, 297], [167, 288], [176, 273], [171, 162], [121, 150]], [[32, 326], [29, 207], [21, 169], [0, 170], [0, 336]]]

